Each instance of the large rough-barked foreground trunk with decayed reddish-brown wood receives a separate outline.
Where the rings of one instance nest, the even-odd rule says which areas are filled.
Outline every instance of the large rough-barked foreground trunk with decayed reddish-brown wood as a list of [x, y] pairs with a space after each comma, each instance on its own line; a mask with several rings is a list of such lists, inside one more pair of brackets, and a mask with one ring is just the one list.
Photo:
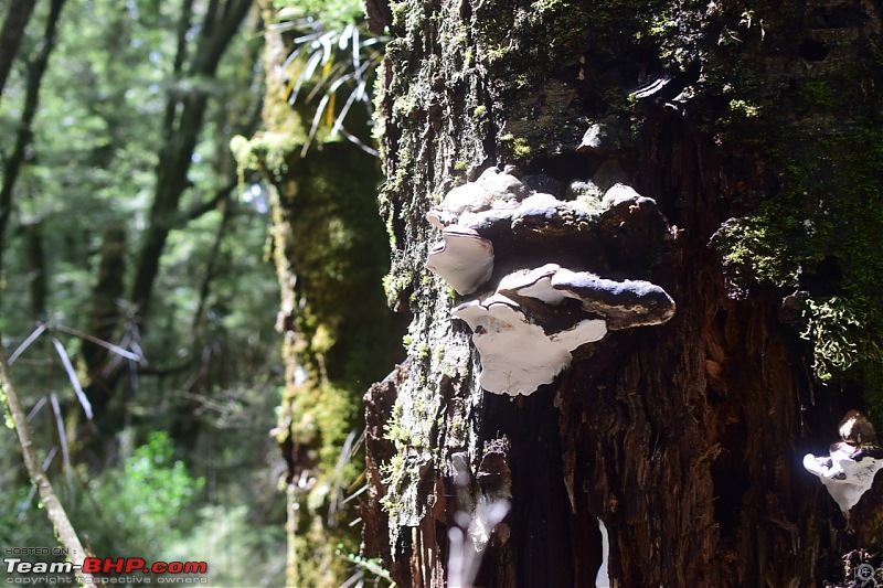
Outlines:
[[[827, 450], [845, 409], [877, 403], [879, 356], [838, 362], [825, 344], [863, 350], [880, 332], [879, 7], [405, 0], [392, 14], [381, 201], [412, 343], [365, 397], [363, 554], [401, 586], [442, 587], [464, 577], [455, 527], [508, 500], [476, 585], [592, 586], [599, 520], [618, 586], [842, 578], [841, 555], [873, 546], [874, 507], [865, 496], [844, 532], [801, 459]], [[562, 237], [525, 267], [649, 280], [673, 318], [578, 348], [532, 395], [483, 392], [450, 314], [482, 291], [454, 297], [425, 269], [438, 240], [425, 213], [490, 165], [563, 193], [610, 159], [667, 236], [641, 243], [624, 217], [598, 248]], [[528, 250], [519, 238], [494, 243], [498, 259]], [[862, 327], [800, 306], [832, 297]]]

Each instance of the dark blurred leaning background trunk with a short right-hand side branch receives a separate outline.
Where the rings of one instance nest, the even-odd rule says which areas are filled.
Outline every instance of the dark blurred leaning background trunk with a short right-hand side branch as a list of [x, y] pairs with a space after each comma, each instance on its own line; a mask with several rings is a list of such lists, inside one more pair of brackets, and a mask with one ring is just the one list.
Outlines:
[[[251, 9], [252, 0], [213, 1], [196, 25], [193, 2], [182, 3], [179, 14], [181, 33], [173, 72], [179, 84], [196, 81], [205, 83], [216, 78], [219, 63]], [[196, 26], [198, 34], [195, 39], [190, 40], [184, 33], [192, 26]], [[162, 124], [162, 143], [158, 146], [159, 161], [156, 167], [156, 185], [148, 213], [149, 221], [132, 264], [131, 281], [124, 290], [127, 302], [131, 304], [131, 316], [124, 316], [119, 312], [120, 309], [116, 308], [120, 285], [113, 285], [113, 288], [105, 291], [106, 285], [100, 280], [107, 276], [99, 276], [89, 318], [92, 328], [100, 325], [102, 334], [96, 333], [98, 336], [121, 332], [125, 322], [129, 320], [139, 323], [141, 333], [147, 330], [151, 298], [160, 276], [160, 261], [170, 233], [175, 228], [183, 228], [200, 214], [213, 210], [233, 189], [232, 184], [221, 186], [214, 195], [205, 196], [205, 204], [196, 206], [195, 212], [182, 211], [182, 200], [192, 185], [189, 173], [193, 153], [204, 132], [205, 115], [212, 95], [199, 85], [188, 92], [170, 88], [168, 94]], [[113, 250], [117, 242], [121, 243], [123, 238], [121, 234], [113, 231], [108, 233], [105, 253]], [[106, 256], [104, 260], [111, 265], [118, 263]], [[114, 298], [109, 297], [111, 292]], [[108, 324], [106, 321], [114, 316], [119, 319], [117, 324]], [[102, 463], [109, 452], [107, 447], [102, 446], [102, 439], [111, 438], [126, 423], [125, 400], [117, 396], [116, 391], [129, 365], [120, 361], [114, 352], [99, 345], [86, 343], [84, 350], [86, 370], [89, 374], [86, 395], [95, 410], [95, 421], [102, 438], [93, 435], [83, 442], [83, 446], [85, 451], [95, 453], [94, 462]]]

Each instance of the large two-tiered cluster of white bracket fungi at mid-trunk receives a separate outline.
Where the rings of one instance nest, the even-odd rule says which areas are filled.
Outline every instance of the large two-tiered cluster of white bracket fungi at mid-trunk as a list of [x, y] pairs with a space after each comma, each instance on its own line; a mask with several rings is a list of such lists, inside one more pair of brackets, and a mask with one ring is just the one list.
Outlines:
[[474, 295], [453, 314], [472, 330], [482, 388], [532, 394], [571, 364], [576, 348], [674, 314], [661, 287], [587, 270], [606, 267], [611, 248], [646, 256], [671, 233], [656, 202], [620, 177], [608, 165], [560, 200], [530, 188], [542, 182], [491, 168], [427, 213], [442, 242], [426, 267]]

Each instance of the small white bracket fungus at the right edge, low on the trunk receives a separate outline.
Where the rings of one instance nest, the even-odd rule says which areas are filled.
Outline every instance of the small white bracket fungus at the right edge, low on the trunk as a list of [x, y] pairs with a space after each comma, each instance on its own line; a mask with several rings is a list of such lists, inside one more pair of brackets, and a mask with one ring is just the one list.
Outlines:
[[883, 469], [883, 448], [877, 445], [871, 421], [858, 410], [847, 413], [839, 430], [842, 440], [831, 445], [828, 456], [807, 453], [804, 468], [819, 477], [840, 510], [848, 514]]

